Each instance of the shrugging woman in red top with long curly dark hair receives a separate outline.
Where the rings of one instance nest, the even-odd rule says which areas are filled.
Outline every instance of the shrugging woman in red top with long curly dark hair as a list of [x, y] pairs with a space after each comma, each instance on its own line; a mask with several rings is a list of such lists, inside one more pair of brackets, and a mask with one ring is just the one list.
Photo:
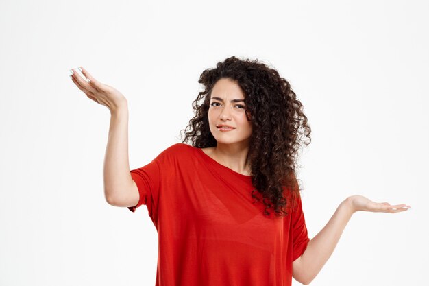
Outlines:
[[106, 200], [145, 204], [158, 231], [156, 285], [308, 285], [353, 213], [410, 208], [352, 195], [310, 240], [295, 178], [310, 127], [289, 82], [258, 60], [233, 56], [201, 73], [182, 143], [131, 171], [127, 100], [81, 71], [88, 81], [71, 70], [73, 82], [111, 113]]

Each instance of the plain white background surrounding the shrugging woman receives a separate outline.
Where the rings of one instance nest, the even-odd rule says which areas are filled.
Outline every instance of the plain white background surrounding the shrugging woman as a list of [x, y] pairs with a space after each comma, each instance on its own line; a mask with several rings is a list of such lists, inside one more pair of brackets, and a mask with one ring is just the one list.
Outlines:
[[424, 285], [428, 14], [428, 1], [2, 0], [0, 285], [154, 285], [156, 228], [145, 206], [107, 204], [110, 112], [69, 69], [127, 97], [135, 169], [180, 142], [199, 75], [232, 55], [277, 69], [304, 104], [310, 238], [349, 195], [412, 207], [356, 213], [310, 285]]

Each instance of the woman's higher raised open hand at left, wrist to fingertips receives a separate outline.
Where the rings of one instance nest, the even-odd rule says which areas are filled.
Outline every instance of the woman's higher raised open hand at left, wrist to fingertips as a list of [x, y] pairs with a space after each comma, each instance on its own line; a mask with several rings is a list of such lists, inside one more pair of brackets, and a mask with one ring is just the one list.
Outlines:
[[71, 80], [76, 84], [76, 86], [83, 91], [86, 96], [93, 101], [106, 106], [110, 113], [115, 112], [118, 108], [127, 105], [127, 99], [122, 95], [116, 88], [112, 86], [108, 86], [107, 84], [102, 84], [95, 78], [93, 78], [86, 69], [80, 67], [82, 69], [82, 74], [89, 80], [87, 82], [80, 75], [76, 73], [75, 70], [71, 69], [72, 75]]

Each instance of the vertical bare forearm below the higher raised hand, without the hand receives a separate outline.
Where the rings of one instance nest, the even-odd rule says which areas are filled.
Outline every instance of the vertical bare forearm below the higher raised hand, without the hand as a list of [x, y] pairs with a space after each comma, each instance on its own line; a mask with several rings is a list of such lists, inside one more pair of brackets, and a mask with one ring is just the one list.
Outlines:
[[103, 166], [104, 194], [112, 202], [132, 184], [128, 160], [128, 108], [124, 104], [110, 117], [108, 143]]

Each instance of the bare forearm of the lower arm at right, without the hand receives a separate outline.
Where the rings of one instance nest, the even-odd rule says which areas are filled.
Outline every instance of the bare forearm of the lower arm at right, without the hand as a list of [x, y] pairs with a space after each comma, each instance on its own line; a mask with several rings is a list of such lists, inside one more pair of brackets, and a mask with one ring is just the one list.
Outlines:
[[328, 261], [354, 211], [346, 199], [336, 208], [328, 224], [310, 241], [301, 257], [302, 270], [310, 283]]

